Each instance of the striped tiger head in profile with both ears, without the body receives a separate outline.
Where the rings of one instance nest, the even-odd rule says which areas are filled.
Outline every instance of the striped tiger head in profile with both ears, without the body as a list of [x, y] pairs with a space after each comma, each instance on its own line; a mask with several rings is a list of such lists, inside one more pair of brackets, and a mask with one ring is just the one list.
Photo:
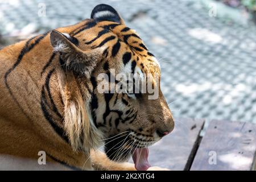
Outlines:
[[159, 62], [113, 7], [94, 7], [91, 19], [70, 34], [52, 31], [51, 43], [68, 69], [90, 80], [90, 114], [110, 159], [138, 158], [174, 129]]

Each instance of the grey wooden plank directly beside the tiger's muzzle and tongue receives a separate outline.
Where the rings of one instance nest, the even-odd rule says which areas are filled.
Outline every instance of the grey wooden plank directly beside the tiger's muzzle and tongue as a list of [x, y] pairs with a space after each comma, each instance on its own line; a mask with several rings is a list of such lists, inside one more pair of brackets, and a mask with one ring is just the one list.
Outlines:
[[174, 131], [149, 147], [151, 166], [171, 170], [189, 169], [199, 144], [199, 134], [203, 125], [204, 119], [175, 119]]

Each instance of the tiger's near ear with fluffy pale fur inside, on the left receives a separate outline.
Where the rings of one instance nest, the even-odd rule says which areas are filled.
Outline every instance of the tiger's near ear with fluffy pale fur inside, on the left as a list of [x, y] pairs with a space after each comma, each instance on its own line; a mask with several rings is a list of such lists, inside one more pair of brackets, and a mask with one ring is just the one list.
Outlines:
[[50, 40], [53, 52], [60, 54], [62, 67], [81, 76], [90, 77], [98, 60], [101, 59], [101, 49], [82, 51], [76, 38], [57, 30], [51, 32]]

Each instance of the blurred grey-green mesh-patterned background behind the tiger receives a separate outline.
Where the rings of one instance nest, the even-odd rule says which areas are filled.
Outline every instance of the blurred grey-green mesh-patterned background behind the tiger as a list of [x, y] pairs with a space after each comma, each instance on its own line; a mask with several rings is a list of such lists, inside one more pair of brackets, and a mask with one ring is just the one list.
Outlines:
[[0, 47], [113, 6], [162, 67], [175, 118], [256, 123], [256, 1], [0, 0]]

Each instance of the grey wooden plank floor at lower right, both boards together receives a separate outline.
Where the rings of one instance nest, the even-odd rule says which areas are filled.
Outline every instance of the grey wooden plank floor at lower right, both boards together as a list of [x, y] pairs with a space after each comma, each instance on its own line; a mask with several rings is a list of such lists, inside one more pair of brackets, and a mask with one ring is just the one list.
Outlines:
[[173, 133], [150, 147], [152, 166], [171, 170], [255, 170], [256, 125], [211, 121], [199, 137], [203, 119], [176, 119]]

